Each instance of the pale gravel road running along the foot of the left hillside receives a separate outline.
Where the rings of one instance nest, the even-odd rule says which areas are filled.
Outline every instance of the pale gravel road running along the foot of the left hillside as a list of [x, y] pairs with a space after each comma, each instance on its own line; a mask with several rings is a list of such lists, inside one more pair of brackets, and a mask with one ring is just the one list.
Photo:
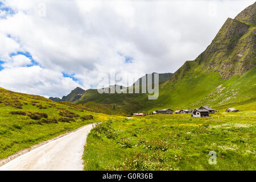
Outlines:
[[0, 171], [82, 170], [82, 154], [93, 124], [52, 140], [0, 167]]

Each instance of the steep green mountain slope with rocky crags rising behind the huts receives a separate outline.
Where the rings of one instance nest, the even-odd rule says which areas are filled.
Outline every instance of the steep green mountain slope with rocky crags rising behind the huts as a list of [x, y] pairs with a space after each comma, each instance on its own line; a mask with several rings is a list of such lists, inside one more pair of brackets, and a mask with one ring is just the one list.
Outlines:
[[160, 84], [157, 100], [148, 100], [147, 94], [99, 94], [90, 89], [76, 103], [109, 114], [201, 105], [255, 109], [255, 6], [247, 7], [235, 19], [228, 18], [196, 60], [186, 61]]

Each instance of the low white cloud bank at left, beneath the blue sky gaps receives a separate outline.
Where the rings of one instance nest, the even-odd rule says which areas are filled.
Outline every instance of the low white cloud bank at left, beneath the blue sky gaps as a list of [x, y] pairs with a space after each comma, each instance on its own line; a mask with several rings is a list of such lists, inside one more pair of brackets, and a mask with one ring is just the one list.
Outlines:
[[57, 97], [81, 86], [61, 73], [39, 66], [6, 68], [0, 72], [0, 78], [5, 78], [0, 80], [0, 85], [6, 89], [45, 97]]

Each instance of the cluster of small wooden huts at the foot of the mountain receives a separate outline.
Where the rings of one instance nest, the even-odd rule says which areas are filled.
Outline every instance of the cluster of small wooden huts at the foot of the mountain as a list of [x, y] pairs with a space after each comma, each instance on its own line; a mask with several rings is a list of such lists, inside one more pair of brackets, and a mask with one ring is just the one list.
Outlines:
[[[238, 112], [239, 110], [234, 109], [234, 108], [228, 108], [226, 109], [226, 113], [231, 113], [231, 112]], [[156, 110], [153, 111], [152, 114], [191, 114], [191, 117], [196, 117], [196, 118], [203, 118], [203, 117], [209, 117], [209, 114], [214, 114], [218, 112], [218, 110], [212, 109], [209, 106], [201, 106], [199, 109], [194, 109], [194, 110], [171, 110], [171, 109], [161, 109], [161, 110]], [[134, 116], [143, 116], [147, 115], [144, 113], [133, 113]]]

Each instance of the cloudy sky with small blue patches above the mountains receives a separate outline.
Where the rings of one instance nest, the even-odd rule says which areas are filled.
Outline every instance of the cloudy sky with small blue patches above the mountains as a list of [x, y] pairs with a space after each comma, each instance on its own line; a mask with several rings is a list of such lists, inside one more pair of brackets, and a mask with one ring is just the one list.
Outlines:
[[[195, 60], [255, 0], [0, 0], [0, 87], [62, 97]], [[106, 84], [114, 84], [108, 82]]]

